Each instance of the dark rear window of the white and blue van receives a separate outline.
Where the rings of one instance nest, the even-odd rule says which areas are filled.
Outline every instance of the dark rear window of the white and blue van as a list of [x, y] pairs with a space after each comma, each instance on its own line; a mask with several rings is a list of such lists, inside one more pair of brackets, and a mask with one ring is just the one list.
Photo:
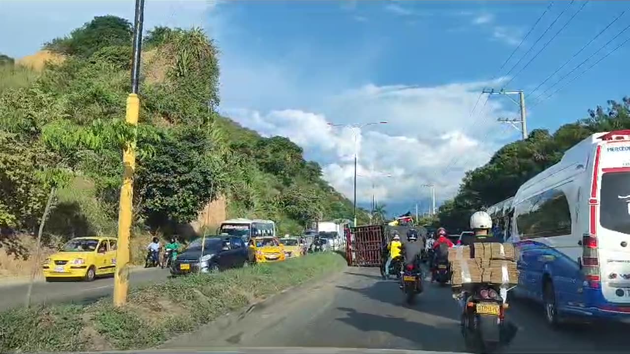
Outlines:
[[630, 234], [630, 172], [604, 173], [601, 196], [602, 227]]

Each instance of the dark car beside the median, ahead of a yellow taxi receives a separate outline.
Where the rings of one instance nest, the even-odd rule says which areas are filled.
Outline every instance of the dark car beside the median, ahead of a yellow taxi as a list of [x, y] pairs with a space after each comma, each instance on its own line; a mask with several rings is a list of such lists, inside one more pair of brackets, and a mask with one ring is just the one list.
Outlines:
[[171, 274], [208, 273], [249, 265], [249, 249], [241, 237], [205, 237], [203, 254], [201, 246], [202, 238], [188, 244], [171, 263]]

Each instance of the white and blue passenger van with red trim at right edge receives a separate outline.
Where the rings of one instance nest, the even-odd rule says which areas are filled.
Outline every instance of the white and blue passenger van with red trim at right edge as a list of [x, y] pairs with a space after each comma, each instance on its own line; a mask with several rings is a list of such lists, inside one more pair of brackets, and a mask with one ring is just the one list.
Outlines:
[[630, 130], [582, 140], [513, 200], [516, 295], [566, 316], [630, 319]]

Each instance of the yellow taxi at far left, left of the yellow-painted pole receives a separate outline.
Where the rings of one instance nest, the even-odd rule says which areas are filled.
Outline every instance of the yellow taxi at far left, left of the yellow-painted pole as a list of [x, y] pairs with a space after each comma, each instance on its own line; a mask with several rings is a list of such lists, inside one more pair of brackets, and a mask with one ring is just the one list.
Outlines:
[[88, 282], [116, 270], [116, 239], [77, 237], [43, 262], [46, 281], [53, 278], [82, 278]]

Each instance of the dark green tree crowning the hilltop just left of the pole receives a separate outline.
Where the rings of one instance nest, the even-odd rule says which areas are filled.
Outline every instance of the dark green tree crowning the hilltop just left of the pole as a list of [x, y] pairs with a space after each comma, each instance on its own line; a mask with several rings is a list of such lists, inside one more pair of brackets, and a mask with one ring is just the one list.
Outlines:
[[124, 18], [96, 16], [67, 37], [59, 37], [44, 44], [44, 49], [60, 54], [89, 57], [97, 50], [110, 46], [130, 46], [133, 26]]

